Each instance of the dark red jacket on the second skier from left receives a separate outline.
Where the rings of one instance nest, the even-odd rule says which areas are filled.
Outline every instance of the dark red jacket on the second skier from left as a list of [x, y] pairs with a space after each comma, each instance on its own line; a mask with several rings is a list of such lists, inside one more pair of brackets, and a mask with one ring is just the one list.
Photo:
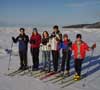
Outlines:
[[30, 38], [31, 48], [39, 48], [41, 43], [41, 35], [32, 35]]

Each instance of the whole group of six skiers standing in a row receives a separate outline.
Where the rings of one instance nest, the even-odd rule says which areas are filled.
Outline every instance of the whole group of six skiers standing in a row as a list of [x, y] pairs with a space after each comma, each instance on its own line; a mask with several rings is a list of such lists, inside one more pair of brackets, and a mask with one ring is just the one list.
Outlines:
[[[21, 70], [28, 69], [27, 65], [27, 52], [28, 43], [30, 43], [30, 51], [32, 55], [33, 66], [32, 70], [39, 70], [39, 52], [42, 51], [42, 68], [41, 71], [51, 72], [51, 53], [53, 62], [53, 72], [58, 73], [60, 50], [62, 50], [62, 60], [60, 73], [70, 75], [70, 60], [72, 52], [74, 53], [75, 64], [75, 80], [79, 80], [81, 76], [82, 61], [85, 59], [86, 51], [93, 50], [96, 44], [91, 47], [82, 40], [82, 35], [77, 34], [75, 42], [68, 38], [67, 34], [62, 35], [59, 27], [55, 25], [51, 35], [47, 31], [44, 31], [42, 36], [38, 33], [37, 28], [33, 28], [32, 35], [29, 39], [25, 34], [25, 29], [20, 28], [20, 34], [18, 37], [12, 37], [14, 43], [19, 42], [19, 56], [20, 56], [20, 68]], [[65, 68], [66, 67], [66, 68]]]

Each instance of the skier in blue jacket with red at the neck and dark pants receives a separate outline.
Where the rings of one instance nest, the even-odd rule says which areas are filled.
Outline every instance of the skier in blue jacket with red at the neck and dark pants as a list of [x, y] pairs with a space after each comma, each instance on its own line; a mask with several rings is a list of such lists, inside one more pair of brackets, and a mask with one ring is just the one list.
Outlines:
[[64, 34], [63, 36], [63, 42], [60, 44], [60, 48], [62, 49], [62, 63], [61, 63], [61, 75], [64, 75], [65, 71], [65, 65], [66, 65], [66, 71], [67, 76], [69, 76], [69, 70], [70, 70], [70, 59], [71, 59], [71, 46], [72, 42], [68, 38], [67, 34]]

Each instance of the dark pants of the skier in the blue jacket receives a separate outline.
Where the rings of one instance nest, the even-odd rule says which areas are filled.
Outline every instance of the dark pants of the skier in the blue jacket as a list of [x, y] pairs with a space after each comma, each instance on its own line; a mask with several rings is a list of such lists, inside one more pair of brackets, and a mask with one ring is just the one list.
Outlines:
[[62, 64], [61, 64], [61, 71], [65, 71], [65, 66], [66, 66], [66, 70], [69, 71], [70, 70], [70, 59], [71, 59], [71, 53], [66, 52], [66, 51], [62, 51]]

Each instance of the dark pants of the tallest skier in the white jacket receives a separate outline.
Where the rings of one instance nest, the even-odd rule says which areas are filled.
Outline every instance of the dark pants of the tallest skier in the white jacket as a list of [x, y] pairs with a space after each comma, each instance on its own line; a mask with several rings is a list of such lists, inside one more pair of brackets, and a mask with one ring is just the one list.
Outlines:
[[59, 51], [52, 50], [52, 59], [53, 59], [53, 68], [54, 71], [58, 71], [58, 59], [59, 59]]

